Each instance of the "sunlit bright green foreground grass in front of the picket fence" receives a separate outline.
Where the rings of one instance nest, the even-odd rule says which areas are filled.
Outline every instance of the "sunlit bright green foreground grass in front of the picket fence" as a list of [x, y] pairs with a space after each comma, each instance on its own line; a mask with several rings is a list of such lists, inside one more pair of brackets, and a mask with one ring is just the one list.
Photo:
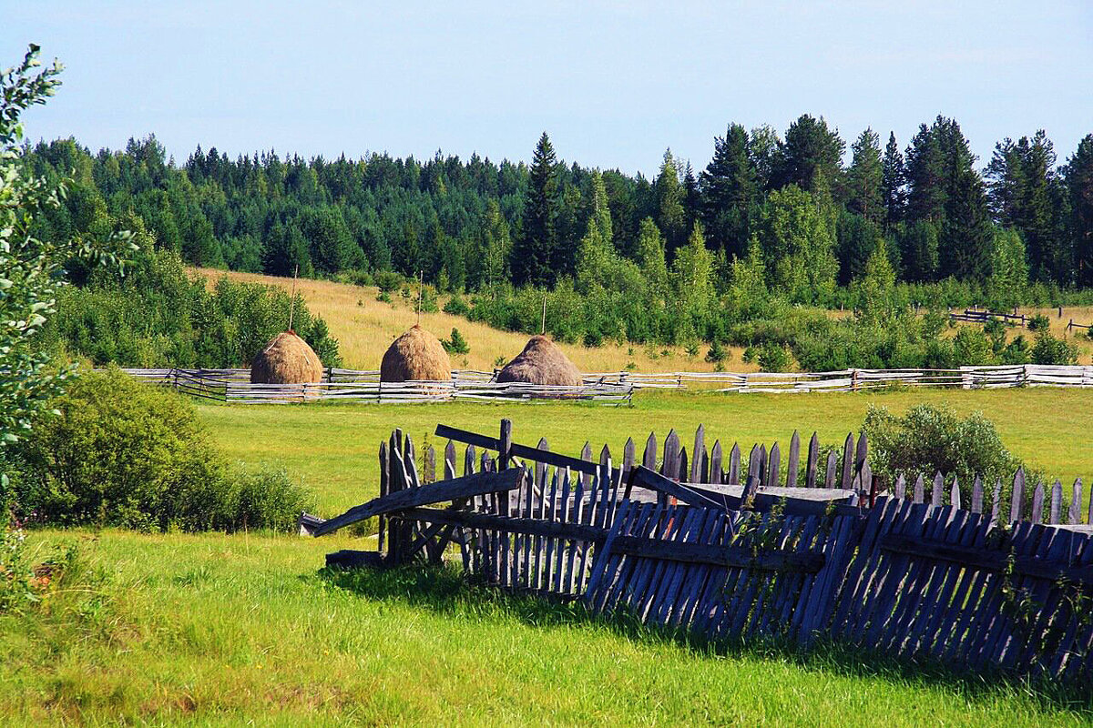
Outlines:
[[[348, 539], [45, 532], [104, 576], [0, 618], [0, 725], [1083, 725], [1015, 688], [710, 654], [419, 572]], [[74, 597], [82, 597], [77, 600]], [[77, 607], [77, 604], [82, 606]]]

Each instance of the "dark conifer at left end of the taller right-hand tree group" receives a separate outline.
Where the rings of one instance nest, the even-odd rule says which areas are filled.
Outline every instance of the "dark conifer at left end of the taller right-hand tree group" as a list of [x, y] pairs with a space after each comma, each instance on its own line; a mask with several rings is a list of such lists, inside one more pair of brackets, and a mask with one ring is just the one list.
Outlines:
[[760, 204], [755, 165], [748, 147], [744, 128], [729, 124], [725, 136], [714, 139], [714, 158], [700, 177], [707, 244], [722, 248], [729, 255], [743, 255]]

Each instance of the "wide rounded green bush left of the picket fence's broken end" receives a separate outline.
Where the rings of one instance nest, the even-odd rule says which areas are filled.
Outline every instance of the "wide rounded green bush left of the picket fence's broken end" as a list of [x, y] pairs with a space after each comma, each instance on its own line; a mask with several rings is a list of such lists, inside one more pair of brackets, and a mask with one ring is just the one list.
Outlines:
[[231, 468], [183, 397], [117, 368], [75, 379], [16, 451], [21, 517], [141, 530], [292, 527], [308, 505], [284, 473]]

